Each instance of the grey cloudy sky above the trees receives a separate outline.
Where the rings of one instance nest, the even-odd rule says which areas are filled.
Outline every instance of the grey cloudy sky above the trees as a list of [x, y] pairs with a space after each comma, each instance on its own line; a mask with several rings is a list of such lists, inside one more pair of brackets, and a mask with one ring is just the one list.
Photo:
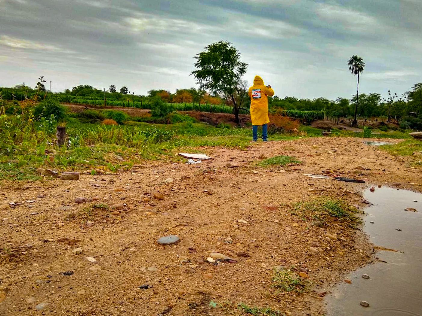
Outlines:
[[422, 82], [422, 0], [0, 0], [0, 86], [189, 88], [193, 57], [227, 40], [284, 97], [403, 93]]

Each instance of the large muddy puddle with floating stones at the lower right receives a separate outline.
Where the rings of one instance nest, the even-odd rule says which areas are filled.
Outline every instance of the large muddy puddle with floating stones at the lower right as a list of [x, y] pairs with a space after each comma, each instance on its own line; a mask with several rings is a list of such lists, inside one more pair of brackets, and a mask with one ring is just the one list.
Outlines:
[[373, 203], [364, 218], [371, 242], [398, 252], [380, 250], [374, 264], [347, 276], [352, 284], [338, 284], [326, 297], [327, 316], [422, 316], [422, 194], [383, 187], [365, 199]]

